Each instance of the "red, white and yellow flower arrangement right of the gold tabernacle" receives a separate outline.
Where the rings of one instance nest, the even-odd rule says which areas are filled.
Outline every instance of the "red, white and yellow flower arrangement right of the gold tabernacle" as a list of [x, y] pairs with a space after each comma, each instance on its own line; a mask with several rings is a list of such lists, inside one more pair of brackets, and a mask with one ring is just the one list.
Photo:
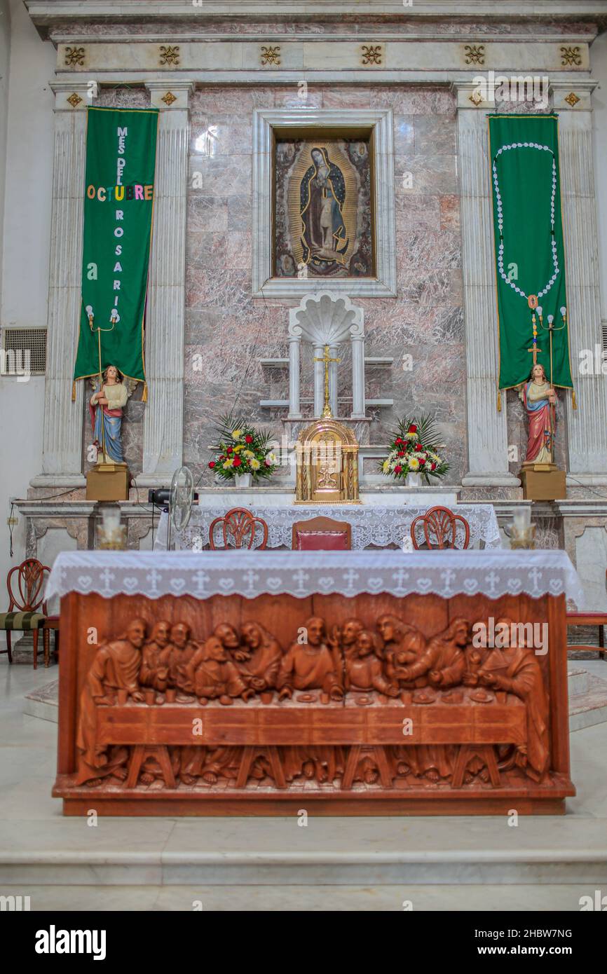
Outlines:
[[438, 456], [442, 444], [438, 443], [435, 420], [424, 413], [419, 421], [405, 416], [398, 423], [398, 431], [392, 433], [388, 456], [380, 461], [380, 469], [386, 476], [404, 480], [408, 473], [419, 473], [430, 483], [431, 477], [442, 477], [449, 465]]

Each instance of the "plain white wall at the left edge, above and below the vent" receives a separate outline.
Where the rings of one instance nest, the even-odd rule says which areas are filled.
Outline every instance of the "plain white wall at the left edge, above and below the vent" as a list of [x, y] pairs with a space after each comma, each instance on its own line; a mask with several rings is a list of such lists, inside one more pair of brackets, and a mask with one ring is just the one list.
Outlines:
[[[9, 4], [2, 3], [1, 7]], [[1, 9], [1, 8], [0, 8]], [[0, 205], [4, 185], [2, 326], [46, 325], [53, 161], [53, 79], [56, 52], [40, 40], [22, 0], [0, 18]], [[8, 71], [7, 71], [8, 62]], [[6, 89], [8, 81], [8, 125]], [[3, 132], [6, 131], [6, 136]], [[0, 612], [4, 580], [25, 555], [23, 522], [9, 556], [9, 498], [25, 497], [42, 465], [44, 377], [0, 377]]]

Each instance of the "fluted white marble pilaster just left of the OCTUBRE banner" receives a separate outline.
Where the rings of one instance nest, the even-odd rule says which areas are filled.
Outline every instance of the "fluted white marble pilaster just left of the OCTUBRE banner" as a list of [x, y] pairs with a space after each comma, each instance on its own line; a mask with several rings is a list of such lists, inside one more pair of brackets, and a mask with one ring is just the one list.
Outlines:
[[[55, 93], [55, 145], [51, 259], [47, 313], [42, 473], [32, 487], [82, 487], [84, 382], [72, 377], [82, 291], [82, 228], [89, 79], [51, 85]], [[71, 100], [68, 100], [71, 99]]]

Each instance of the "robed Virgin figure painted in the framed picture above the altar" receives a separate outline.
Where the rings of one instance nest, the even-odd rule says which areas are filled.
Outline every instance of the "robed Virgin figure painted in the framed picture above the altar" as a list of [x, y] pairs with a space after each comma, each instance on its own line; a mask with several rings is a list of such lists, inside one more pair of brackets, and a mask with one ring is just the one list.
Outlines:
[[343, 266], [349, 244], [342, 215], [346, 201], [344, 174], [329, 159], [326, 148], [310, 153], [312, 166], [301, 180], [301, 243], [304, 264], [312, 263], [318, 274], [327, 274], [335, 264]]

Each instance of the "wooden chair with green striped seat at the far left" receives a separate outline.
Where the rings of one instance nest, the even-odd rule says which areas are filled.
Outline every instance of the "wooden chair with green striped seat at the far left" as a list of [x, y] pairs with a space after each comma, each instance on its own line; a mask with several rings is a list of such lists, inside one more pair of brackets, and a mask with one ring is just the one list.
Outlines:
[[[0, 650], [0, 653], [8, 653], [10, 663], [13, 662], [11, 633], [31, 631], [34, 640], [34, 669], [38, 668], [38, 630], [47, 618], [47, 604], [44, 601], [45, 573], [50, 571], [48, 565], [43, 565], [37, 558], [26, 558], [7, 575], [9, 610], [0, 613], [0, 629], [6, 632], [7, 648]], [[38, 612], [39, 609], [42, 611]], [[50, 632], [43, 631], [42, 638], [46, 663]]]

